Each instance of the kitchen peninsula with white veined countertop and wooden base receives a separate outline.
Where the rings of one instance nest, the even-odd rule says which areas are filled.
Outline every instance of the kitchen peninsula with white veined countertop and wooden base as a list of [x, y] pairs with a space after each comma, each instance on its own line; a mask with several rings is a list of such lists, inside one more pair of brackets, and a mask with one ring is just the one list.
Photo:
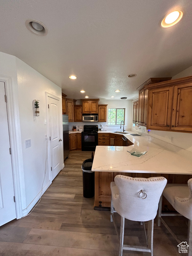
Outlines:
[[[118, 174], [145, 178], [164, 176], [168, 183], [187, 183], [192, 178], [192, 152], [147, 135], [124, 136], [134, 145], [96, 147], [92, 166], [95, 171], [94, 206], [110, 207], [110, 183]], [[132, 156], [127, 152], [132, 148], [147, 153]]]

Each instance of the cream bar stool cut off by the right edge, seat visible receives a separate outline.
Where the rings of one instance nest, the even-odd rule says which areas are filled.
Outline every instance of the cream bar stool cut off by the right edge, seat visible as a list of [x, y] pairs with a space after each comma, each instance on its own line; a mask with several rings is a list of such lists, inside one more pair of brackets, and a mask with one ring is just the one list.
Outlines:
[[188, 222], [188, 255], [192, 255], [192, 179], [188, 180], [187, 184], [167, 184], [163, 196], [169, 201], [169, 203], [175, 208], [178, 213], [162, 213], [162, 196], [159, 201], [158, 219], [157, 225], [160, 226], [161, 222], [180, 244], [182, 241], [172, 232], [166, 222], [161, 216], [178, 216], [183, 215]]

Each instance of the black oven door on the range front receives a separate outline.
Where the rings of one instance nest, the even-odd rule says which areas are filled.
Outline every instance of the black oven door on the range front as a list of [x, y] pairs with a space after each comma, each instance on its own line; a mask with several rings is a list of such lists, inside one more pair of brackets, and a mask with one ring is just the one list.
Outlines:
[[98, 133], [82, 132], [82, 151], [95, 151], [98, 145]]

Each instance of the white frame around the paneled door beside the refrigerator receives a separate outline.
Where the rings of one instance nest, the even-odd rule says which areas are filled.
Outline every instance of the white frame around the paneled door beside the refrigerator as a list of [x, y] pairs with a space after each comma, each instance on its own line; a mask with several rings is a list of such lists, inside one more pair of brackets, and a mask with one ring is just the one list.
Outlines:
[[[63, 133], [62, 133], [62, 123], [63, 123], [63, 120], [62, 120], [62, 101], [61, 101], [62, 98], [59, 98], [59, 97], [57, 97], [57, 96], [55, 96], [55, 95], [53, 95], [53, 94], [50, 94], [50, 93], [48, 93], [48, 92], [45, 92], [45, 94], [46, 94], [46, 112], [47, 112], [49, 179], [50, 179], [50, 182], [52, 183], [52, 174], [51, 174], [51, 150], [50, 150], [50, 140], [49, 140], [50, 131], [49, 131], [48, 97], [60, 101], [60, 109], [61, 109], [61, 117], [60, 117], [61, 132], [60, 132], [60, 138], [62, 138], [62, 147], [63, 147]], [[63, 159], [63, 157], [62, 157], [62, 162], [63, 162], [62, 168], [64, 168], [65, 165], [64, 165], [64, 159]]]

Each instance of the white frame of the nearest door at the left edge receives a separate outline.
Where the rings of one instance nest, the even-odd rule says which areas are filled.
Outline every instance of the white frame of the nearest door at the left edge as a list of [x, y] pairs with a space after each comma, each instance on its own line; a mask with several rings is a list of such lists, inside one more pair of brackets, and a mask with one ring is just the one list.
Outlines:
[[15, 196], [16, 218], [23, 217], [22, 202], [25, 201], [24, 173], [22, 161], [22, 145], [20, 136], [19, 107], [13, 94], [13, 82], [9, 76], [0, 75], [0, 81], [5, 83], [7, 96], [7, 117], [9, 127], [9, 140], [11, 147], [11, 164], [13, 174], [13, 188]]

